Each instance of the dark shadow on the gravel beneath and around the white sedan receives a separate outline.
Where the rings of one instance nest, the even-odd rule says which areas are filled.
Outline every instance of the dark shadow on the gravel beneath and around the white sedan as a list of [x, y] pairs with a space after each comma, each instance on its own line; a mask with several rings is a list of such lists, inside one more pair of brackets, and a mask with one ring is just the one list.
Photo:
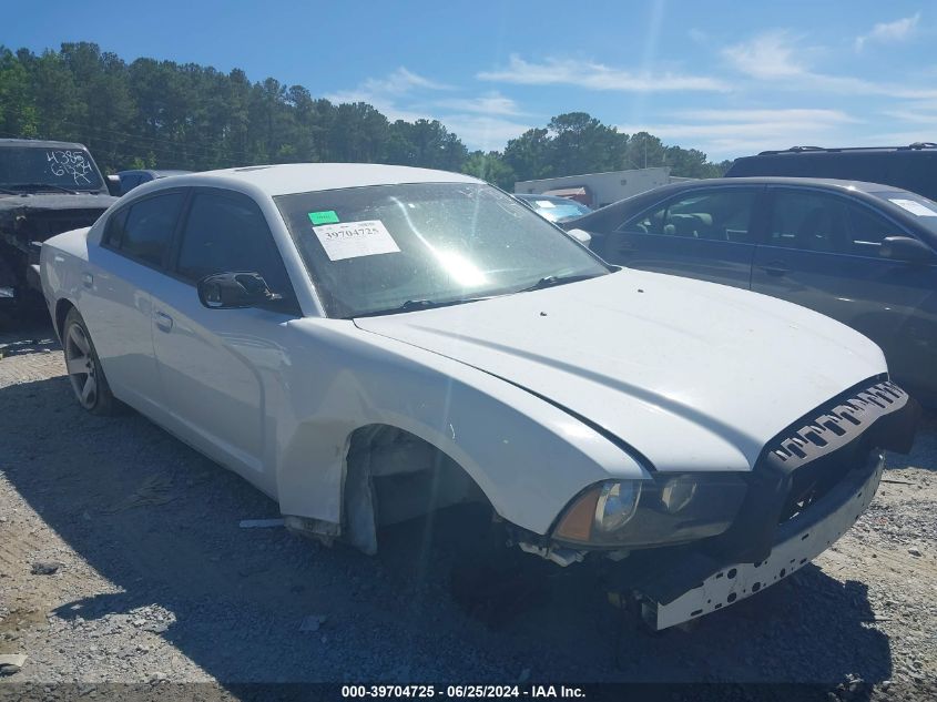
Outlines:
[[[375, 558], [326, 549], [240, 528], [276, 505], [134, 413], [81, 411], [64, 377], [2, 388], [0, 408], [7, 479], [113, 586], [50, 603], [54, 614], [124, 648], [155, 633], [225, 683], [892, 675], [866, 587], [814, 566], [693, 631], [652, 634], [608, 603], [591, 569], [519, 552], [460, 593], [454, 572], [490, 566], [458, 510], [386, 530]], [[100, 655], [115, 654], [108, 640]]]

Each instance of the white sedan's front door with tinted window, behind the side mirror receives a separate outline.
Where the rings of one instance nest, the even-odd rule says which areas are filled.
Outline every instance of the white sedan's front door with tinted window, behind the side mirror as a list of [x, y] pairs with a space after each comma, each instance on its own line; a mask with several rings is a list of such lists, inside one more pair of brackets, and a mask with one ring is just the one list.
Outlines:
[[[153, 344], [175, 430], [259, 487], [273, 490], [276, 407], [286, 323], [295, 295], [269, 227], [248, 196], [193, 189], [174, 252], [173, 276], [153, 293]], [[264, 308], [208, 309], [197, 282], [256, 272], [283, 299]]]

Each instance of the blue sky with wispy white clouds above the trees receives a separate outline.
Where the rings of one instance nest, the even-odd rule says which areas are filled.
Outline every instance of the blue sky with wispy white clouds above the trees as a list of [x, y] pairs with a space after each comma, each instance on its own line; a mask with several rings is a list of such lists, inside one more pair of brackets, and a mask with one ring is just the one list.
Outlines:
[[921, 1], [43, 0], [0, 27], [9, 48], [78, 40], [439, 119], [471, 149], [570, 111], [714, 160], [937, 141], [937, 6]]

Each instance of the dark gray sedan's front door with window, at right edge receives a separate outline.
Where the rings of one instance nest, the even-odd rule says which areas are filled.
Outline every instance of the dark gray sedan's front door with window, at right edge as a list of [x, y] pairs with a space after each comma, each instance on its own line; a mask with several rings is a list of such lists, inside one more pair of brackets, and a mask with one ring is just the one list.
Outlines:
[[853, 197], [792, 187], [770, 193], [752, 289], [848, 324], [882, 347], [899, 381], [933, 387], [937, 267], [879, 255], [886, 236], [914, 234]]

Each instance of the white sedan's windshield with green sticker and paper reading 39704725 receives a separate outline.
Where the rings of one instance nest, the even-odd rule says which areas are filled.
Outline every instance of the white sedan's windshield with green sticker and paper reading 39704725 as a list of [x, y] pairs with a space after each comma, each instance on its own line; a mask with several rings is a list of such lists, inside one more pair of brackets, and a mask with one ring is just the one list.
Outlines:
[[610, 271], [490, 185], [375, 185], [275, 200], [332, 317], [457, 304]]

